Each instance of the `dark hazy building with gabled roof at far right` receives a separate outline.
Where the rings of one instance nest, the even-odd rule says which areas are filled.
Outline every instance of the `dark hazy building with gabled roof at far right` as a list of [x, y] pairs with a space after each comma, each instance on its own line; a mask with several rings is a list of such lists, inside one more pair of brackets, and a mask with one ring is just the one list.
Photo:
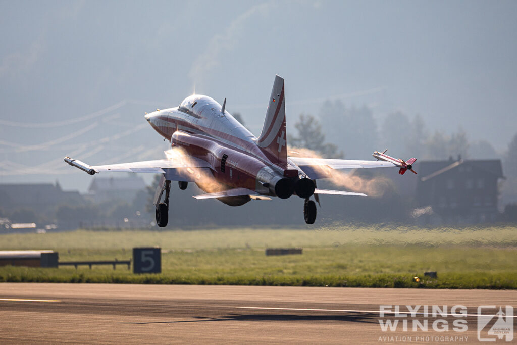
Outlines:
[[416, 198], [432, 207], [430, 223], [497, 221], [498, 183], [504, 178], [500, 159], [422, 161]]

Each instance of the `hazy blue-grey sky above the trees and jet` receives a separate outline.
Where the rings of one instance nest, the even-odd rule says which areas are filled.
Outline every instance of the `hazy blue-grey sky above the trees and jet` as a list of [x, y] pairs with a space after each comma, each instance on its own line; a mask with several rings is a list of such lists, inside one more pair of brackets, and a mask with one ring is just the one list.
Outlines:
[[194, 90], [227, 97], [259, 134], [275, 74], [288, 126], [340, 98], [499, 151], [517, 132], [515, 1], [0, 1], [0, 13], [1, 183], [84, 190], [63, 156], [159, 158], [144, 111]]

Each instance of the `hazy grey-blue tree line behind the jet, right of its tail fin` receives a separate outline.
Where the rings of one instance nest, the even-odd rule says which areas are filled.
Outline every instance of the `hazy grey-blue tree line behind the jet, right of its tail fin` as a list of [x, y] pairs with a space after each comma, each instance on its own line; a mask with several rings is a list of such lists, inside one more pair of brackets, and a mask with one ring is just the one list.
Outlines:
[[[374, 149], [386, 148], [399, 157], [427, 160], [469, 158], [471, 152], [476, 158], [498, 158], [490, 143], [469, 142], [462, 128], [452, 133], [431, 133], [420, 115], [410, 117], [401, 111], [389, 113], [378, 122], [367, 106], [346, 107], [340, 100], [325, 102], [319, 116], [301, 114], [295, 128], [297, 133], [290, 142], [293, 146], [302, 143], [321, 153], [341, 151], [349, 159], [369, 157]], [[322, 139], [326, 148], [318, 147]]]

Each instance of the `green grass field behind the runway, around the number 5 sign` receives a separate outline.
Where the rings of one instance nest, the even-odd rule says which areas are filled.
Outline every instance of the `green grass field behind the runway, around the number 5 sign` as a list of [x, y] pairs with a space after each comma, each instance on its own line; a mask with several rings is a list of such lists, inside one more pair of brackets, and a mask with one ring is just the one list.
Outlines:
[[[61, 261], [127, 260], [136, 246], [162, 248], [162, 273], [127, 267], [0, 267], [0, 281], [517, 288], [517, 228], [73, 231], [0, 235], [0, 249], [53, 249]], [[302, 255], [266, 257], [266, 247]], [[437, 271], [438, 278], [423, 277]], [[413, 282], [413, 276], [422, 280]]]

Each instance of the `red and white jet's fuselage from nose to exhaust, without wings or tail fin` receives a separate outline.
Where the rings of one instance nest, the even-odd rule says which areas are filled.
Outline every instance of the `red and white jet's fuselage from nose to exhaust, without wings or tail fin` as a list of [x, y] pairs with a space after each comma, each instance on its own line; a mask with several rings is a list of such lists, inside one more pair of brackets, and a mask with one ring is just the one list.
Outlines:
[[[210, 97], [192, 95], [179, 107], [157, 110], [145, 117], [173, 147], [181, 147], [188, 155], [209, 162], [212, 177], [226, 189], [248, 188], [286, 199], [300, 181], [294, 163], [288, 164], [288, 169], [272, 163], [257, 146], [257, 138]], [[205, 192], [217, 191], [213, 190], [214, 185], [197, 185]], [[237, 206], [250, 198], [219, 200]]]

